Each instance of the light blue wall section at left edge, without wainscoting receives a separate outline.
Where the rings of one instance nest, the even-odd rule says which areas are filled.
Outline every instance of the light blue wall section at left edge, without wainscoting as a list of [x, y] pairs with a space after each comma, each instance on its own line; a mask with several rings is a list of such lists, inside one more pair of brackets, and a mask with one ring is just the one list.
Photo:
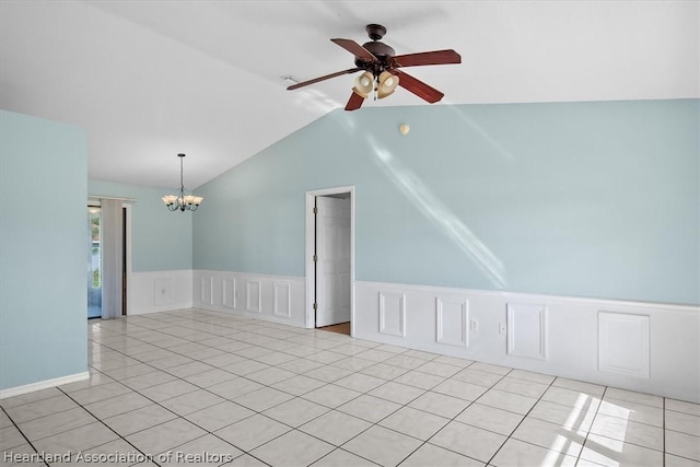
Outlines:
[[0, 388], [88, 371], [82, 129], [0, 110]]

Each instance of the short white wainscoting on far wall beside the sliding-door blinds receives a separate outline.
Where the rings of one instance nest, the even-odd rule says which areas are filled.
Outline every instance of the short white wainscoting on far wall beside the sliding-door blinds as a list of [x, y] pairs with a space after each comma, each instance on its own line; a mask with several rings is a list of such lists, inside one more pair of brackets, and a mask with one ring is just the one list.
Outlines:
[[[201, 290], [201, 287], [198, 287]], [[199, 296], [199, 295], [198, 295]], [[192, 307], [192, 271], [131, 272], [127, 284], [127, 315]]]

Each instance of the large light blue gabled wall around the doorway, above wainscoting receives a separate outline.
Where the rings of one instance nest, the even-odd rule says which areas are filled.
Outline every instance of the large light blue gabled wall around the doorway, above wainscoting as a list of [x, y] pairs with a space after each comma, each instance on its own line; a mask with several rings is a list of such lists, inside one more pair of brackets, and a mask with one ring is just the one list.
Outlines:
[[699, 126], [697, 100], [336, 110], [198, 189], [194, 266], [303, 276], [305, 191], [354, 185], [358, 280], [698, 304]]

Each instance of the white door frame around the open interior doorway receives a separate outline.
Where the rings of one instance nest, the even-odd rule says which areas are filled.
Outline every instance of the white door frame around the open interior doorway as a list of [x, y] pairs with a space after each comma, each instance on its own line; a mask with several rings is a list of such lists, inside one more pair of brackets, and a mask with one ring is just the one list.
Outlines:
[[334, 188], [323, 188], [306, 191], [306, 328], [316, 327], [314, 313], [314, 295], [316, 278], [314, 268], [314, 249], [316, 230], [314, 206], [317, 196], [350, 194], [350, 335], [354, 336], [354, 185]]

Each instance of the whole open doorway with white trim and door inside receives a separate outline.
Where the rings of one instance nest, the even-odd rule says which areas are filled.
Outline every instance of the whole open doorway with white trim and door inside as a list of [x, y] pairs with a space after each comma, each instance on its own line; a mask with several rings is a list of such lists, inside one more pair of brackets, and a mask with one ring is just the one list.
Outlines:
[[353, 334], [354, 187], [306, 192], [306, 327]]

